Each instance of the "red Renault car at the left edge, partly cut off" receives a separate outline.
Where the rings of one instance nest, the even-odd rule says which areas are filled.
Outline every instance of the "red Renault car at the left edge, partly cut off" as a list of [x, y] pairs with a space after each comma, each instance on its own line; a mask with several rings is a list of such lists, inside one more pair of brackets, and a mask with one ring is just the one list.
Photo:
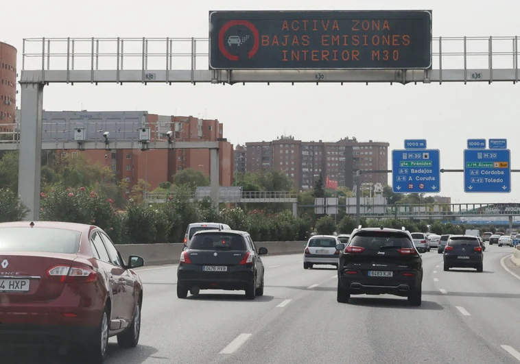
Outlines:
[[102, 363], [139, 342], [143, 284], [108, 235], [80, 223], [0, 223], [0, 340], [72, 345]]

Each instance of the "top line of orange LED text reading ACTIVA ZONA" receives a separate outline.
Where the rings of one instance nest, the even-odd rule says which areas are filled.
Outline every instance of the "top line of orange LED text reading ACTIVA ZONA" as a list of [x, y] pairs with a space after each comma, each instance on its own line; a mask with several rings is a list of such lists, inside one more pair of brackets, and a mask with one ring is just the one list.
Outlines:
[[[344, 21], [341, 21], [343, 24]], [[369, 30], [390, 30], [390, 22], [388, 20], [372, 19], [372, 20], [359, 20], [351, 19], [348, 21], [348, 29], [353, 32], [368, 32]], [[318, 32], [320, 30], [340, 30], [340, 21], [338, 20], [292, 20], [283, 21], [282, 30], [285, 32], [293, 31], [298, 32], [303, 30], [304, 32], [312, 31]]]

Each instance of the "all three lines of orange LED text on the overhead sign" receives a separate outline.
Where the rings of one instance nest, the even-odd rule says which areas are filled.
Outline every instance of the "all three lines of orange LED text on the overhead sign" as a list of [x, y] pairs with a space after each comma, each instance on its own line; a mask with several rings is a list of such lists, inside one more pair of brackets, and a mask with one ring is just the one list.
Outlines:
[[[342, 23], [344, 27], [344, 23]], [[388, 20], [356, 20], [352, 19], [346, 32], [341, 34], [340, 22], [337, 20], [293, 20], [283, 21], [280, 36], [261, 36], [262, 47], [289, 47], [281, 49], [283, 61], [359, 61], [363, 47], [381, 47], [371, 50], [370, 58], [374, 61], [399, 60], [399, 47], [410, 46], [408, 34], [392, 34]], [[331, 32], [316, 36], [312, 32]], [[363, 34], [363, 32], [382, 32], [382, 34]], [[311, 33], [311, 34], [302, 34]], [[316, 47], [317, 49], [312, 49]], [[357, 49], [322, 49], [323, 47], [357, 47]], [[387, 47], [387, 49], [383, 49]], [[299, 49], [298, 49], [299, 48]], [[304, 49], [301, 49], [304, 48]], [[310, 48], [310, 49], [309, 49]]]

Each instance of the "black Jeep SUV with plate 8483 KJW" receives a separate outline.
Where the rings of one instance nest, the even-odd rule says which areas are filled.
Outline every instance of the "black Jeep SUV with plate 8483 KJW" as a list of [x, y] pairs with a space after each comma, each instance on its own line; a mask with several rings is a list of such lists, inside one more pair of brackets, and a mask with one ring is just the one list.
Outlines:
[[357, 228], [348, 245], [338, 244], [338, 302], [351, 295], [390, 294], [421, 306], [423, 259], [410, 232]]

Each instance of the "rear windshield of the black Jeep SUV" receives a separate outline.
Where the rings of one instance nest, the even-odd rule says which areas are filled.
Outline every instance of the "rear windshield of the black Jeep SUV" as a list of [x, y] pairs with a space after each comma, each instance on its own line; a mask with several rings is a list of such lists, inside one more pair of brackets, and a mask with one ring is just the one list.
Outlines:
[[399, 232], [370, 231], [359, 232], [352, 239], [349, 246], [364, 247], [366, 250], [401, 249], [414, 247], [408, 236]]

